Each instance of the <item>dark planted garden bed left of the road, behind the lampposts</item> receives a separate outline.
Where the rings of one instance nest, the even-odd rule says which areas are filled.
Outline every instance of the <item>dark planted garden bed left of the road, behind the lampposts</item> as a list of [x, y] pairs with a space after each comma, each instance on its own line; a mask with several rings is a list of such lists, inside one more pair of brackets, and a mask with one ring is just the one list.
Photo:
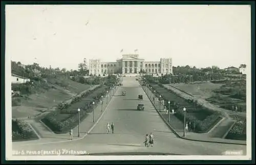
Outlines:
[[55, 133], [66, 133], [70, 128], [74, 128], [78, 125], [78, 113], [77, 109], [80, 108], [80, 120], [88, 116], [88, 113], [92, 112], [92, 102], [95, 104], [100, 101], [101, 95], [105, 95], [109, 90], [109, 86], [102, 86], [94, 89], [84, 95], [81, 98], [77, 98], [69, 106], [62, 106], [52, 113], [49, 113], [42, 121], [51, 128]]

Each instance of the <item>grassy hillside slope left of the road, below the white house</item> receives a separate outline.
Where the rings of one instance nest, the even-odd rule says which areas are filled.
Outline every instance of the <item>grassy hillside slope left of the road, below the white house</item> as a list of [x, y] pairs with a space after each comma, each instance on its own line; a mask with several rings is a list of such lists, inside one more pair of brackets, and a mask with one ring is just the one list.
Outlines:
[[66, 77], [46, 78], [42, 83], [30, 84], [33, 86], [32, 94], [21, 93], [23, 97], [12, 98], [13, 118], [27, 118], [36, 115], [90, 88], [90, 85], [80, 84]]

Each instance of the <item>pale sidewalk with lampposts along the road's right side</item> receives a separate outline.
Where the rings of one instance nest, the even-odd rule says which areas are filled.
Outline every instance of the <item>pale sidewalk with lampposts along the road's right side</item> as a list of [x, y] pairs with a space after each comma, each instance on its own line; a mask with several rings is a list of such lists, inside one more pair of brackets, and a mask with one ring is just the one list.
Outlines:
[[[163, 105], [161, 105], [161, 112], [159, 112], [159, 101], [153, 101], [153, 98], [150, 98], [154, 94], [151, 93], [150, 90], [147, 93], [145, 87], [142, 87], [145, 93], [148, 96], [148, 99], [151, 100], [152, 104], [155, 106], [157, 112], [159, 113], [160, 117], [164, 120], [164, 122], [169, 126], [172, 131], [182, 139], [191, 140], [191, 141], [199, 141], [199, 142], [210, 142], [210, 143], [224, 143], [224, 144], [237, 144], [237, 145], [246, 145], [246, 141], [239, 141], [239, 140], [227, 140], [221, 138], [214, 138], [210, 137], [212, 134], [208, 133], [195, 133], [195, 132], [187, 132], [186, 137], [183, 136], [184, 134], [184, 124], [181, 120], [179, 120], [174, 114], [170, 114], [170, 122], [168, 123], [168, 114], [166, 114], [163, 110]], [[225, 121], [225, 120], [224, 120]], [[224, 122], [225, 123], [225, 122]], [[226, 124], [226, 123], [225, 123]], [[218, 128], [218, 126], [216, 127]], [[225, 129], [227, 130], [227, 129]], [[223, 129], [222, 129], [223, 131]]]

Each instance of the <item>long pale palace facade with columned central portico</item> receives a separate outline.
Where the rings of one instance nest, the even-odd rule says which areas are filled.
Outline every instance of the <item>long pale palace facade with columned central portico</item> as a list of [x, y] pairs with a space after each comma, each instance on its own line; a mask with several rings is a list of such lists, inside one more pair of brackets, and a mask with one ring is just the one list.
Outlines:
[[173, 74], [172, 58], [160, 58], [160, 61], [148, 61], [139, 58], [139, 54], [123, 54], [116, 62], [89, 60], [89, 74]]

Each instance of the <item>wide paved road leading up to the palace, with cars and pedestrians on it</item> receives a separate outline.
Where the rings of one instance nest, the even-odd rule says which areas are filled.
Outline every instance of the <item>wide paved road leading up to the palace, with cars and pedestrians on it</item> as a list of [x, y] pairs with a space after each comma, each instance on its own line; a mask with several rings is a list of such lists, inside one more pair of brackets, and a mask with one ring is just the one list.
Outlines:
[[[120, 96], [126, 91], [126, 96]], [[137, 111], [137, 98], [142, 94], [144, 111]], [[114, 134], [106, 134], [106, 123], [114, 122]], [[153, 132], [154, 147], [144, 147], [145, 134]], [[104, 116], [84, 139], [73, 142], [23, 146], [24, 150], [86, 150], [89, 153], [105, 152], [159, 152], [181, 155], [222, 155], [226, 150], [243, 150], [246, 146], [194, 142], [179, 139], [166, 126], [135, 77], [123, 77], [119, 88]]]

